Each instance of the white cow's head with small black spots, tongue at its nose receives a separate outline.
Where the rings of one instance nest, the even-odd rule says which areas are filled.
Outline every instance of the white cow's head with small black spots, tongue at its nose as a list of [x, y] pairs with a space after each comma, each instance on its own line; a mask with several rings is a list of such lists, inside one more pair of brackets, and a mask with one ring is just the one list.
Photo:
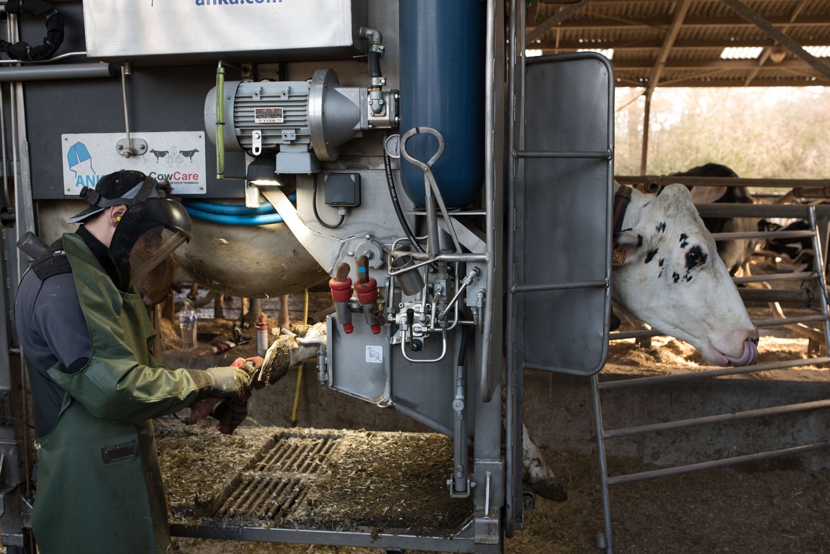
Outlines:
[[613, 269], [618, 309], [717, 365], [755, 361], [758, 329], [686, 187], [669, 185], [657, 197], [632, 191], [616, 243], [625, 255]]

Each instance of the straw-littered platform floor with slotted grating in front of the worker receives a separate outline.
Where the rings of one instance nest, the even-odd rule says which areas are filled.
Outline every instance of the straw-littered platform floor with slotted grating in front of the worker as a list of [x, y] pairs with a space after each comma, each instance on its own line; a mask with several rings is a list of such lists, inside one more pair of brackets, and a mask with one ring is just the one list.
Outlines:
[[452, 439], [434, 433], [156, 427], [174, 535], [287, 541], [286, 533], [457, 537]]

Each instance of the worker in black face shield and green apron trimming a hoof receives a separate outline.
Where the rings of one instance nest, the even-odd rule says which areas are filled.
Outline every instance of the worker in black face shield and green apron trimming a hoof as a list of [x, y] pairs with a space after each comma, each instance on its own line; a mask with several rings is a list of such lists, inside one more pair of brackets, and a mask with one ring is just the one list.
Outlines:
[[[144, 173], [100, 178], [81, 192], [81, 223], [32, 263], [15, 303], [32, 386], [41, 554], [173, 552], [152, 419], [207, 397], [234, 399], [239, 367], [168, 369], [134, 284], [183, 241], [191, 222]], [[237, 361], [240, 362], [240, 361]], [[247, 406], [225, 402], [232, 426]]]

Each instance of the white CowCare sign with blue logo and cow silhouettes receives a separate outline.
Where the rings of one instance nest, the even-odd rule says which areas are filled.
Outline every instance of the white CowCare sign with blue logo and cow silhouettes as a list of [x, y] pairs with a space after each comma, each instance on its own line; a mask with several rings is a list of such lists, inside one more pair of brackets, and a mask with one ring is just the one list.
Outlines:
[[[203, 131], [130, 133], [139, 155], [125, 158], [118, 149], [125, 133], [62, 134], [63, 192], [77, 197], [83, 187], [95, 187], [100, 177], [133, 169], [168, 179], [173, 195], [207, 193], [205, 134]], [[123, 149], [123, 148], [122, 148]]]

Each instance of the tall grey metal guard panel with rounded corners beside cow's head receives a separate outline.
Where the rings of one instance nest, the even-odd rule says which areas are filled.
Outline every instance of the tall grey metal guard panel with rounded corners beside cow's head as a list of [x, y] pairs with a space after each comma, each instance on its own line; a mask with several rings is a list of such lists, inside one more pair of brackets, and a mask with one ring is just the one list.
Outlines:
[[527, 62], [515, 274], [524, 367], [588, 376], [605, 365], [613, 98], [603, 56]]

